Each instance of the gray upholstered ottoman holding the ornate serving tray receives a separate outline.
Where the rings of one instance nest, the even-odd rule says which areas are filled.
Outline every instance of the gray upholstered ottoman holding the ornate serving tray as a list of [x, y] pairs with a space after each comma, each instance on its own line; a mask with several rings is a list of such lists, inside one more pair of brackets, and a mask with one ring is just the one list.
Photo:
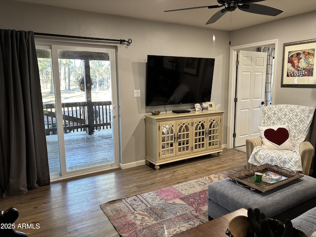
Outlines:
[[316, 179], [303, 176], [266, 193], [241, 187], [230, 178], [208, 185], [208, 216], [215, 219], [239, 208], [259, 208], [267, 217], [293, 219], [316, 206]]

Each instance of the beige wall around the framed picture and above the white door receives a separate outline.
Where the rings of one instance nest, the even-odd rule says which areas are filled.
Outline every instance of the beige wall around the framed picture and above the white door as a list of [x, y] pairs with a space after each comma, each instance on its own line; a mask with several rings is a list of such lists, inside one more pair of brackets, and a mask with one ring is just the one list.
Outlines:
[[281, 87], [283, 43], [316, 39], [316, 11], [240, 29], [232, 32], [231, 39], [231, 46], [278, 39], [274, 103], [316, 107], [315, 87]]

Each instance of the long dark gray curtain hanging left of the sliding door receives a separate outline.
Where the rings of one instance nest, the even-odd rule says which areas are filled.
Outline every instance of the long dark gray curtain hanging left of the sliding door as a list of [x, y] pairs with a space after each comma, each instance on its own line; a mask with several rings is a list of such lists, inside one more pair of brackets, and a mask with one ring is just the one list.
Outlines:
[[0, 30], [0, 196], [49, 184], [34, 33]]

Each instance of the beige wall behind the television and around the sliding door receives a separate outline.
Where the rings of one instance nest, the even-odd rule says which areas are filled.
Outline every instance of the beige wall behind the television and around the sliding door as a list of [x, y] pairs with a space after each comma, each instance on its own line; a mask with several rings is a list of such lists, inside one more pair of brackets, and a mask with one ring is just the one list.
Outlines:
[[[215, 58], [211, 101], [227, 110], [229, 33], [176, 24], [141, 21], [50, 6], [0, 0], [0, 28], [106, 39], [132, 39], [118, 45], [121, 120], [120, 163], [130, 167], [145, 160], [145, 75], [148, 54]], [[213, 35], [215, 39], [213, 41]], [[134, 97], [134, 89], [141, 97]], [[191, 109], [193, 105], [181, 108]], [[163, 111], [164, 107], [155, 108]], [[167, 107], [170, 111], [174, 108]], [[226, 124], [224, 114], [224, 124]], [[224, 125], [223, 144], [227, 126]]]

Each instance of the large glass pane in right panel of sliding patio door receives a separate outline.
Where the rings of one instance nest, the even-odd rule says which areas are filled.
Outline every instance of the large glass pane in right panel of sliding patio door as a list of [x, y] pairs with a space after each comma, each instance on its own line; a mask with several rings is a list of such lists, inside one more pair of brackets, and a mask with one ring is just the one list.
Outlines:
[[114, 163], [110, 54], [59, 49], [58, 66], [66, 171]]

